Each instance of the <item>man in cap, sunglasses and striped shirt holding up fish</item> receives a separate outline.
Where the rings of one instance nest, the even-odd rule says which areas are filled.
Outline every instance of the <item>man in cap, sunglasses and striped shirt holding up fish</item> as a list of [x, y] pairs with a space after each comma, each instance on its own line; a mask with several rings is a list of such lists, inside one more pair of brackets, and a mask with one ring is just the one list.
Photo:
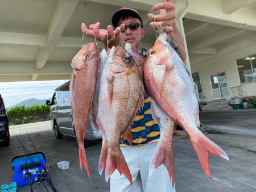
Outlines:
[[[158, 3], [152, 7], [152, 11], [160, 9], [160, 15], [148, 14], [148, 17], [153, 22], [151, 27], [162, 26], [164, 32], [167, 32], [171, 39], [175, 41], [181, 58], [185, 60], [184, 41], [179, 30], [175, 25], [175, 5], [172, 1]], [[132, 43], [138, 50], [142, 50], [141, 39], [144, 37], [145, 30], [141, 16], [137, 10], [129, 8], [121, 8], [114, 12], [112, 16], [112, 24], [115, 27], [108, 26], [107, 30], [99, 29], [100, 23], [91, 24], [90, 30], [87, 30], [88, 35], [104, 43], [104, 47], [111, 48], [113, 45], [122, 43]], [[86, 26], [82, 24], [82, 31], [86, 32]], [[121, 31], [122, 38], [119, 35]], [[108, 34], [108, 35], [107, 35]], [[114, 39], [113, 39], [114, 38]], [[108, 40], [113, 39], [109, 41]], [[125, 176], [120, 176], [118, 170], [110, 177], [110, 191], [175, 191], [172, 189], [170, 177], [164, 165], [159, 166], [152, 176], [148, 174], [148, 168], [152, 156], [159, 140], [160, 131], [158, 124], [152, 119], [150, 111], [150, 95], [147, 93], [144, 107], [136, 116], [133, 126], [131, 127], [133, 135], [133, 146], [129, 146], [127, 141], [121, 144], [121, 150], [127, 165], [129, 166], [133, 184], [127, 180]]]

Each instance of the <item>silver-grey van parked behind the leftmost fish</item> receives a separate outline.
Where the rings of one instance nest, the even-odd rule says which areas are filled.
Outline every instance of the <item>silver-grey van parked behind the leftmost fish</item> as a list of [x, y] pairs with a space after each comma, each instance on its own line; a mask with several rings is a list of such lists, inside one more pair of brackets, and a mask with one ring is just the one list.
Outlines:
[[[50, 116], [52, 130], [55, 132], [57, 139], [62, 139], [63, 135], [76, 137], [75, 128], [73, 126], [69, 83], [70, 81], [57, 87], [52, 96], [52, 101], [46, 101], [46, 105], [51, 106]], [[101, 131], [97, 132], [90, 123], [90, 120], [88, 120], [84, 142], [85, 147], [89, 147], [90, 141], [101, 138]]]

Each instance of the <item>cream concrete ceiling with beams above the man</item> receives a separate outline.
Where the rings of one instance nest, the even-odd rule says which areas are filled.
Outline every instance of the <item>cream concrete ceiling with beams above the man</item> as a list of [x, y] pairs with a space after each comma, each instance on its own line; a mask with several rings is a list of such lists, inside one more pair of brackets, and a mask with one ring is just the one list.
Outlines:
[[[147, 13], [158, 2], [0, 0], [0, 81], [69, 79], [71, 60], [81, 48], [81, 23], [99, 21], [106, 28], [123, 6], [139, 10], [146, 29], [142, 45], [150, 48], [156, 36]], [[174, 2], [178, 17], [185, 1]], [[191, 65], [256, 44], [256, 0], [189, 2], [183, 23]]]

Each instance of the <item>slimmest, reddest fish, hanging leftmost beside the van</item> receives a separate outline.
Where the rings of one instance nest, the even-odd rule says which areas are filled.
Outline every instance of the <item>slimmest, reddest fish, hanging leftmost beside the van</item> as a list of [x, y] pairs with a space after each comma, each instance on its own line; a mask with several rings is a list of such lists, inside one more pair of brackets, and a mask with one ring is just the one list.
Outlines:
[[71, 106], [73, 124], [79, 145], [80, 168], [84, 165], [90, 180], [89, 168], [84, 149], [84, 137], [92, 107], [94, 88], [98, 72], [98, 50], [96, 43], [89, 43], [73, 58], [71, 64], [73, 76], [71, 80]]

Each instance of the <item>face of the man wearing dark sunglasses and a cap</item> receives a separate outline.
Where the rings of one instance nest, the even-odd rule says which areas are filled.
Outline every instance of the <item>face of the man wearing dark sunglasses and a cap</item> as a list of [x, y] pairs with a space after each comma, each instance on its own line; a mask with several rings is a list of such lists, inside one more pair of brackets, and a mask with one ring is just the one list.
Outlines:
[[[141, 21], [138, 18], [132, 16], [127, 17], [125, 20], [122, 18], [119, 19], [117, 26], [120, 26], [122, 23], [125, 23], [128, 26], [131, 23], [138, 22], [141, 24]], [[141, 39], [144, 37], [145, 30], [141, 26], [137, 29], [131, 30], [129, 27], [126, 28], [126, 32], [121, 32], [123, 44], [132, 43], [137, 49], [141, 50]]]

